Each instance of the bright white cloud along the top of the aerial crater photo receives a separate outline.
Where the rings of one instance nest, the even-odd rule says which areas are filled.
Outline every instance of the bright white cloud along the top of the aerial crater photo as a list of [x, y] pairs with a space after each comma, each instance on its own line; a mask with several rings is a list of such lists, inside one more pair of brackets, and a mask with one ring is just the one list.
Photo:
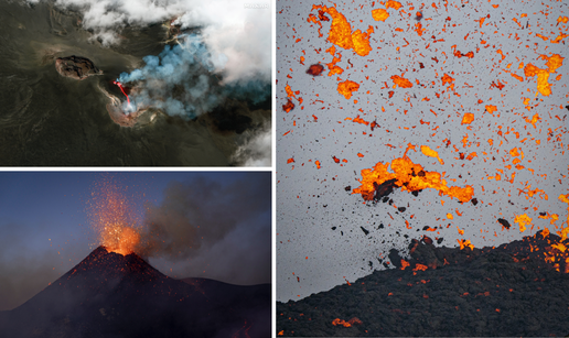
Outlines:
[[[37, 3], [41, 0], [29, 0]], [[270, 80], [271, 10], [248, 2], [218, 0], [56, 0], [60, 8], [83, 14], [83, 26], [93, 30], [104, 45], [118, 44], [118, 33], [127, 25], [148, 25], [179, 18], [183, 28], [202, 26], [204, 43], [212, 53], [216, 72], [226, 83]]]

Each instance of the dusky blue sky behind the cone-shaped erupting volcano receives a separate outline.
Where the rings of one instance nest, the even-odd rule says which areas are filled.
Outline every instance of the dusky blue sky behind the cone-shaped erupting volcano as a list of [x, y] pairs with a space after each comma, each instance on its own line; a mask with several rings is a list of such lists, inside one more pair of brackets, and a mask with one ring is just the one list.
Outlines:
[[[140, 220], [136, 227], [143, 228], [146, 210], [153, 209], [183, 212], [187, 225], [179, 231], [184, 226], [204, 229], [197, 232], [196, 250], [149, 258], [162, 273], [240, 285], [270, 283], [269, 172], [2, 172], [0, 310], [21, 305], [97, 248], [90, 205], [103, 183], [122, 192]], [[189, 240], [181, 238], [173, 240], [178, 248]]]

